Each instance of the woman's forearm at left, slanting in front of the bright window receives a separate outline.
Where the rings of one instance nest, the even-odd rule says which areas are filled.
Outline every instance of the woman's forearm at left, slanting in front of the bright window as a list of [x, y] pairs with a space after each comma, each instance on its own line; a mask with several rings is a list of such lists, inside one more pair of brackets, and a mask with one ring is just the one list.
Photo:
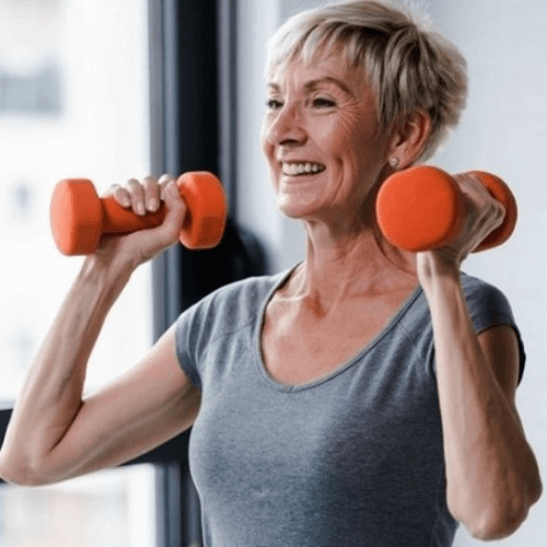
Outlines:
[[37, 474], [70, 428], [82, 405], [89, 357], [131, 271], [129, 265], [85, 259], [18, 396], [0, 452], [0, 475], [4, 466], [10, 473]]

